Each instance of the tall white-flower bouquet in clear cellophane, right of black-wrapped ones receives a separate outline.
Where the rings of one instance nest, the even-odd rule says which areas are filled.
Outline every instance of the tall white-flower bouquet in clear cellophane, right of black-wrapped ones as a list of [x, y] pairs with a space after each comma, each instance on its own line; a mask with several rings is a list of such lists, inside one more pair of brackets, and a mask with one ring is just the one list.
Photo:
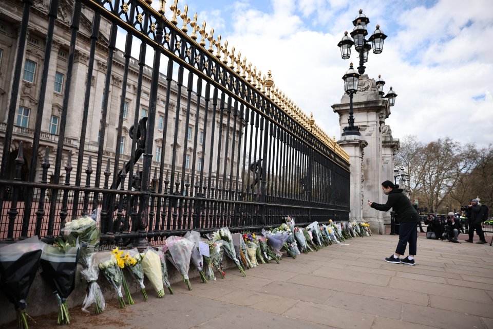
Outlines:
[[81, 251], [79, 263], [82, 265], [81, 274], [86, 281], [86, 297], [82, 303], [82, 310], [89, 312], [89, 307], [94, 305], [94, 313], [100, 314], [106, 307], [106, 302], [97, 280], [99, 277], [98, 265], [94, 257], [99, 249], [101, 208], [92, 212], [90, 216], [82, 216], [65, 224], [62, 234], [66, 242], [71, 245], [79, 243]]

